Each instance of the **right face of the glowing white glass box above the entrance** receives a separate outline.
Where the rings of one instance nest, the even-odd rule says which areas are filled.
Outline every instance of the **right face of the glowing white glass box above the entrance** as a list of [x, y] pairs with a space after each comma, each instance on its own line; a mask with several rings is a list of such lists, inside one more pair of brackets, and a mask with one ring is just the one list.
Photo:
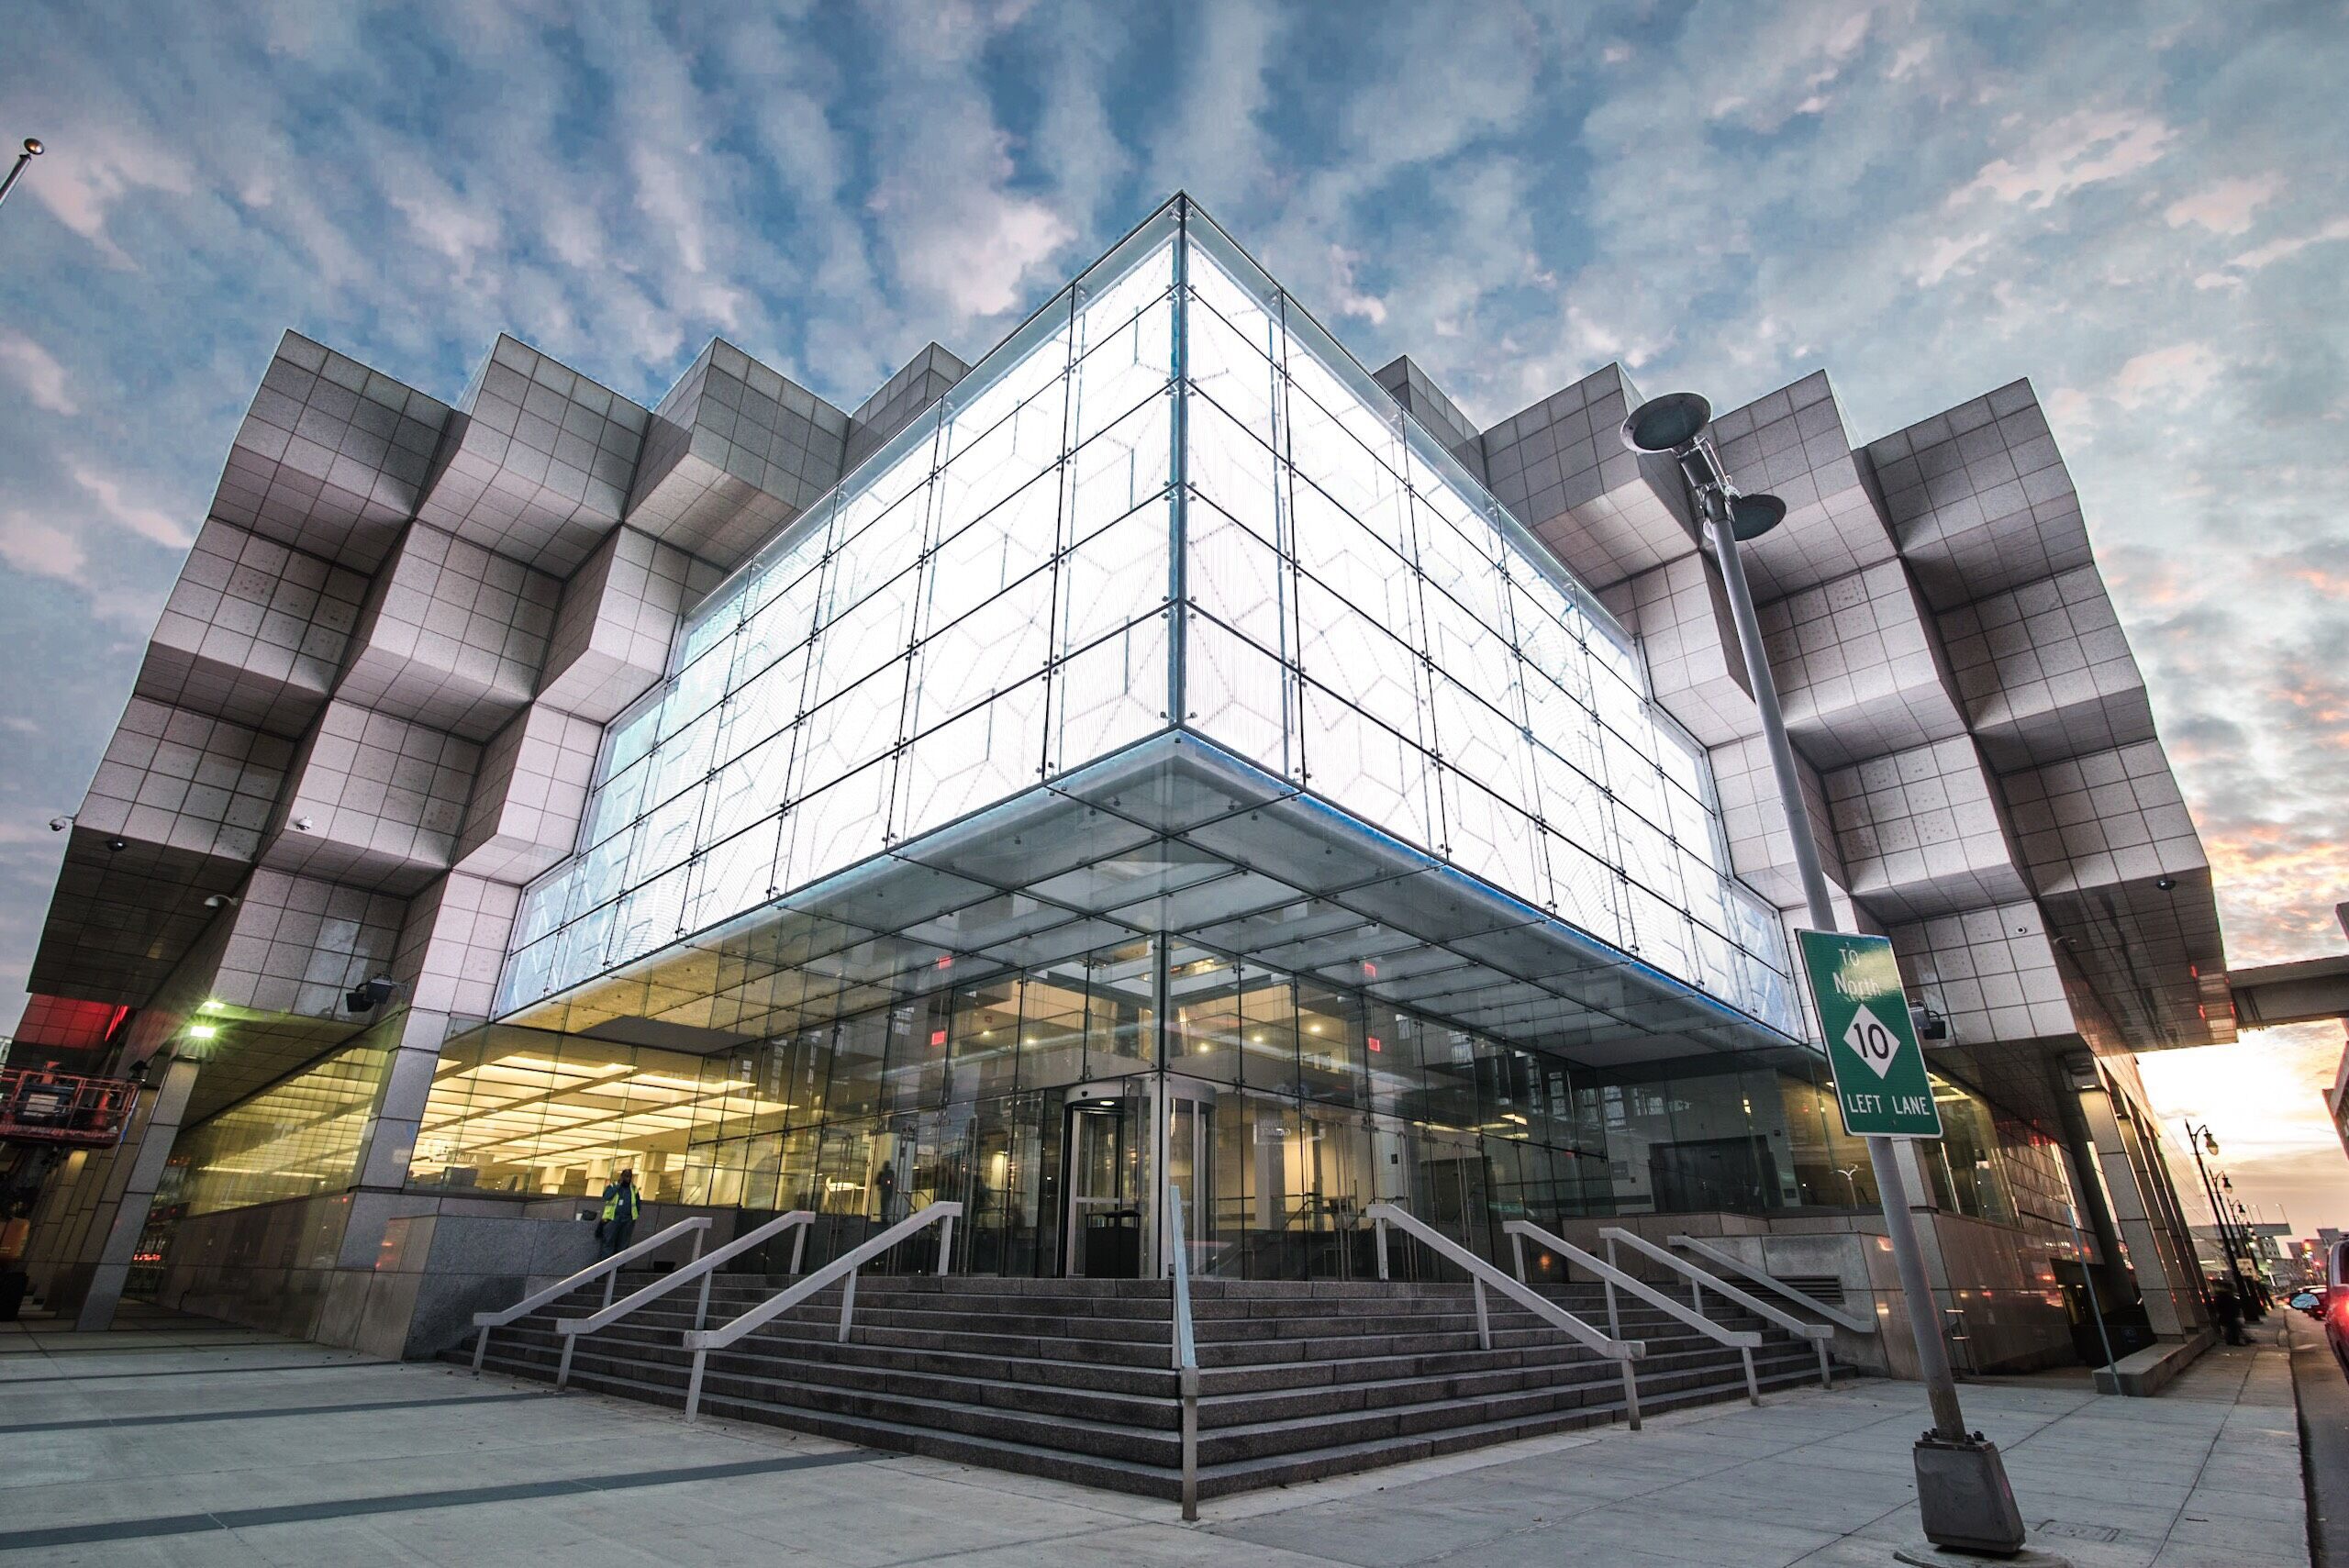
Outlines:
[[1797, 1033], [1776, 911], [1630, 638], [1238, 246], [1186, 232], [1189, 723]]

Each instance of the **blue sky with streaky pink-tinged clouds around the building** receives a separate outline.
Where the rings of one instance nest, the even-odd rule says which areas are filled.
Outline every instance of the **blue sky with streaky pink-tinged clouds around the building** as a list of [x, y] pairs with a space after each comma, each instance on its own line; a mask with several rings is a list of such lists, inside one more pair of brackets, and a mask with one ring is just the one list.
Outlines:
[[[451, 401], [498, 331], [644, 404], [726, 336], [855, 406], [1177, 188], [1480, 425], [1609, 359], [1717, 408], [1828, 366], [1856, 441], [2030, 376], [2232, 962], [2340, 951], [2342, 80], [2330, 0], [33, 0], [0, 56], [0, 146], [49, 146], [0, 209], [0, 995], [282, 329]], [[2145, 1080], [2239, 1192], [2349, 1225], [2340, 1047]]]

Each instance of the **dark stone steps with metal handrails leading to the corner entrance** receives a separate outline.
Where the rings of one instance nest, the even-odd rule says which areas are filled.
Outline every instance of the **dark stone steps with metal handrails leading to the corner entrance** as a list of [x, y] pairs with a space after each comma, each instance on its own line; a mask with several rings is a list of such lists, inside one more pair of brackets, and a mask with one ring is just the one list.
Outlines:
[[[627, 1275], [627, 1293], [651, 1275]], [[787, 1277], [719, 1275], [709, 1324], [766, 1300]], [[1400, 1465], [1482, 1444], [1618, 1420], [1621, 1368], [1499, 1293], [1492, 1350], [1478, 1347], [1466, 1284], [1287, 1284], [1198, 1279], [1198, 1491], [1219, 1493]], [[1550, 1289], [1604, 1326], [1600, 1286]], [[552, 1380], [554, 1317], [585, 1317], [601, 1282], [498, 1329], [486, 1366]], [[1738, 1352], [1623, 1298], [1623, 1333], [1647, 1340], [1642, 1413], [1745, 1394]], [[1818, 1378], [1811, 1345], [1759, 1319], [1764, 1390]], [[684, 1406], [693, 1286], [585, 1336], [571, 1383]], [[857, 1282], [841, 1345], [839, 1291], [712, 1352], [702, 1408], [850, 1444], [1179, 1495], [1182, 1439], [1170, 1371], [1170, 1293], [1144, 1279], [871, 1277]], [[472, 1345], [449, 1359], [470, 1359]]]

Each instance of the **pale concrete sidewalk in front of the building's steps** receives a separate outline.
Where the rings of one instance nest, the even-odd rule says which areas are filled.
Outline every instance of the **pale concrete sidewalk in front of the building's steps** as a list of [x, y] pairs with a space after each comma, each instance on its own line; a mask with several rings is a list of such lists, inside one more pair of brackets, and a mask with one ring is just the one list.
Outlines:
[[[2304, 1566], [2288, 1354], [2161, 1399], [2086, 1373], [1966, 1385], [2032, 1545], [2081, 1568]], [[1665, 1415], [1226, 1498], [1142, 1498], [371, 1361], [188, 1319], [0, 1333], [14, 1563], [944, 1563], [1499, 1568], [1891, 1563], [1914, 1542], [1914, 1385]]]

